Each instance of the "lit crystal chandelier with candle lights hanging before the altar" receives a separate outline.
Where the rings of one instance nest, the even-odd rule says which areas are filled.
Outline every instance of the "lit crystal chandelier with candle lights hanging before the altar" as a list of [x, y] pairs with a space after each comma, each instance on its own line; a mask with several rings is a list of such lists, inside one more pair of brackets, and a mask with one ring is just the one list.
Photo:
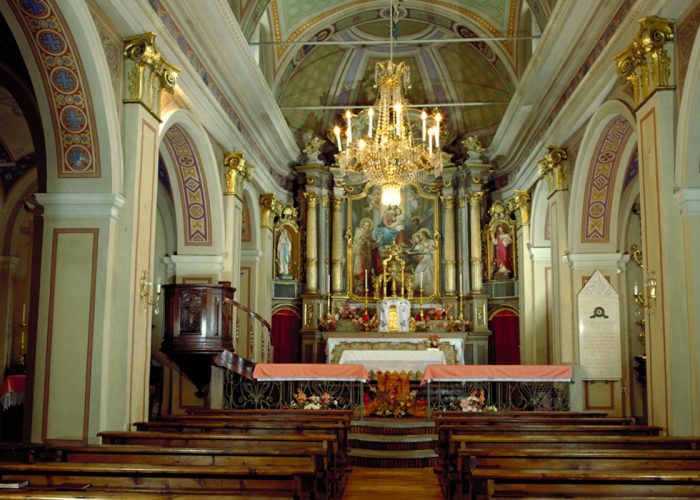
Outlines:
[[[392, 60], [378, 62], [374, 70], [375, 88], [379, 88], [374, 106], [367, 111], [367, 135], [353, 140], [352, 113], [345, 112], [345, 148], [340, 127], [334, 128], [341, 172], [356, 172], [382, 189], [382, 204], [398, 205], [401, 188], [413, 182], [419, 173], [439, 175], [440, 121], [435, 113], [428, 127], [428, 115], [421, 113], [421, 140], [413, 137], [409, 106], [404, 91], [410, 88], [408, 67]], [[376, 115], [376, 128], [373, 122]]]

